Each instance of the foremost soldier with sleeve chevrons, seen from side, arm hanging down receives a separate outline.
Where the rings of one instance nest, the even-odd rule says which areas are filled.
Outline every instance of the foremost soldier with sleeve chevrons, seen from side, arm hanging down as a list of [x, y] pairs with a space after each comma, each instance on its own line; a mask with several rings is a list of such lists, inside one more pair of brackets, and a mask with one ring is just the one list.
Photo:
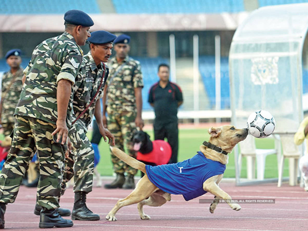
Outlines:
[[[8, 158], [0, 174], [0, 228], [7, 203], [13, 203], [30, 158], [40, 164], [38, 204], [40, 228], [70, 227], [57, 212], [64, 163], [64, 144], [71, 126], [71, 90], [82, 61], [82, 50], [94, 23], [84, 12], [64, 15], [65, 32], [40, 43], [25, 69], [25, 84], [15, 110], [15, 126]], [[60, 140], [61, 139], [61, 140]]]

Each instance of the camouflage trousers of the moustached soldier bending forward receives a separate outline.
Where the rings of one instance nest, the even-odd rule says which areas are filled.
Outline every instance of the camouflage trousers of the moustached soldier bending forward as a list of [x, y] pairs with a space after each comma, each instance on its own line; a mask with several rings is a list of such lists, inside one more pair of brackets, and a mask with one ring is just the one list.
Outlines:
[[92, 191], [94, 171], [94, 150], [86, 131], [80, 120], [77, 120], [69, 130], [69, 138], [72, 143], [70, 156], [65, 159], [63, 184], [61, 186], [63, 195], [66, 183], [74, 176], [74, 192]]

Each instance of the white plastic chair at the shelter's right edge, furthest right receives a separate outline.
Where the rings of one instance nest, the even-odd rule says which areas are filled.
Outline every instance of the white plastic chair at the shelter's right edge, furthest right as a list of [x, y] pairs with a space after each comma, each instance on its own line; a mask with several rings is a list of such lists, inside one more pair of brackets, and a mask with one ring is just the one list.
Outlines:
[[294, 186], [297, 184], [298, 176], [298, 159], [302, 156], [299, 147], [294, 144], [294, 134], [280, 135], [283, 155], [280, 159], [278, 167], [278, 187], [281, 186], [283, 175], [283, 164], [285, 158], [289, 158], [289, 184]]

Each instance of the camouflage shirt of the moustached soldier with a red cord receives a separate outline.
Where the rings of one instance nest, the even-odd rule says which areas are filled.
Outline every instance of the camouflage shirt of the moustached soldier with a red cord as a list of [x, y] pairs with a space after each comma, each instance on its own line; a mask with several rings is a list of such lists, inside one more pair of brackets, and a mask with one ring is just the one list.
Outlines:
[[93, 103], [87, 109], [87, 111], [79, 118], [84, 124], [84, 129], [87, 131], [89, 124], [91, 123], [94, 115], [95, 103], [97, 100], [103, 97], [103, 90], [108, 78], [109, 69], [106, 67], [105, 76], [103, 78], [103, 65], [96, 66], [94, 59], [89, 51], [83, 56], [81, 71], [79, 71], [74, 87], [74, 113], [73, 120], [77, 118], [83, 110], [90, 104], [99, 84], [103, 78], [102, 86], [99, 89], [99, 93], [96, 95]]

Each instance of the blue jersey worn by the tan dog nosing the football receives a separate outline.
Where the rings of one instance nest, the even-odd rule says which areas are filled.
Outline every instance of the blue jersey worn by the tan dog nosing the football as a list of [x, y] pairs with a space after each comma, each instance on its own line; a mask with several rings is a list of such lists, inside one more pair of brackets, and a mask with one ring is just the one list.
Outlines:
[[186, 201], [205, 193], [203, 183], [225, 172], [226, 165], [207, 159], [202, 152], [176, 164], [146, 165], [149, 180], [164, 192], [182, 194]]

